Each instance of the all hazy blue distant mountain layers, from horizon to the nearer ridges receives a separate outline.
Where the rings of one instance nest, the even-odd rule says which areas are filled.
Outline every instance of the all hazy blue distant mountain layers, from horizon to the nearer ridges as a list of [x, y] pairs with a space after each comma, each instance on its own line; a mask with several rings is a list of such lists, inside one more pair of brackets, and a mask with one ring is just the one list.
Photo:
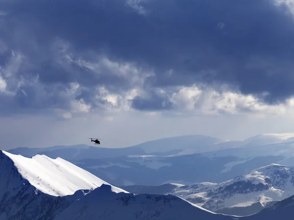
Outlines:
[[[16, 148], [8, 152], [26, 157], [62, 157], [116, 185], [187, 185], [203, 181], [220, 183], [270, 163], [287, 165], [294, 155], [293, 135], [261, 134], [243, 141], [185, 135], [128, 148], [75, 145]], [[279, 163], [281, 160], [284, 162]]]

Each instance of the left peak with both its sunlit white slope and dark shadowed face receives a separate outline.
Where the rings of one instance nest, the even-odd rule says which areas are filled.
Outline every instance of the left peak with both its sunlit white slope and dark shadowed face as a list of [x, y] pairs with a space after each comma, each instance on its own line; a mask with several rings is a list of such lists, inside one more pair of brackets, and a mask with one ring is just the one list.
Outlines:
[[0, 220], [48, 219], [102, 184], [127, 193], [61, 158], [0, 151]]

